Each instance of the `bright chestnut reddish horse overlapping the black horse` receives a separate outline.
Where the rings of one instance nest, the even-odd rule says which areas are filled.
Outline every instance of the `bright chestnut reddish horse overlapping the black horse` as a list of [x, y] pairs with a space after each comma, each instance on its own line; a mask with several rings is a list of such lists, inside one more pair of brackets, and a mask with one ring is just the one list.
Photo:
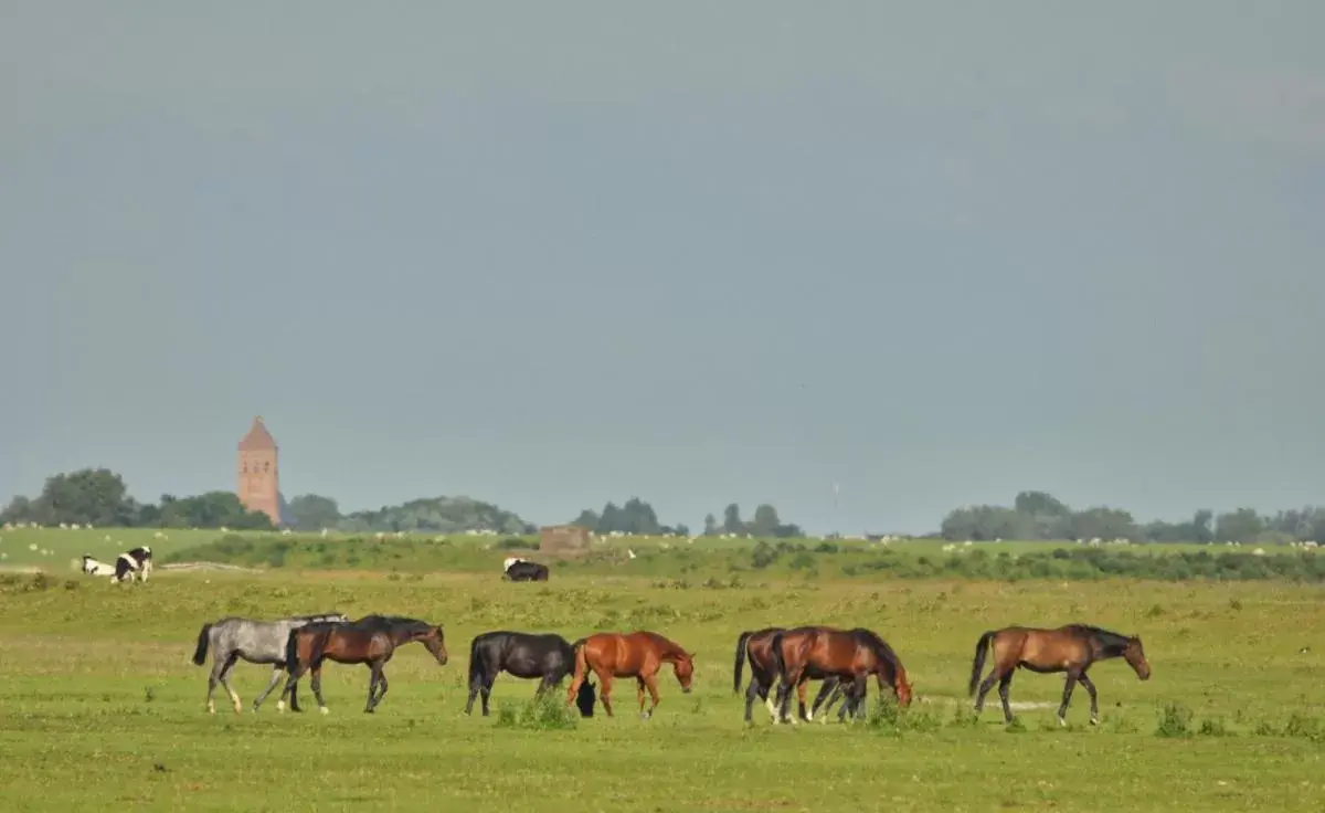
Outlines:
[[[590, 670], [598, 675], [598, 696], [603, 710], [612, 716], [612, 678], [635, 678], [640, 698], [640, 716], [648, 720], [659, 707], [657, 674], [664, 663], [670, 663], [681, 691], [690, 694], [690, 680], [694, 676], [694, 654], [686, 653], [673, 641], [657, 633], [636, 631], [596, 633], [580, 638], [575, 647], [575, 678], [566, 694], [566, 706], [575, 702], [579, 687]], [[649, 690], [653, 704], [644, 711], [644, 690]]]

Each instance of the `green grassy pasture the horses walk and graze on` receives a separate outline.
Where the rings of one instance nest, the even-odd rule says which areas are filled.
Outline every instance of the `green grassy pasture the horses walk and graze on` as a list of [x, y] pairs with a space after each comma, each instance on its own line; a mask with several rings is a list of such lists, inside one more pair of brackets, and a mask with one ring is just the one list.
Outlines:
[[[204, 621], [333, 609], [443, 622], [450, 663], [401, 650], [375, 715], [362, 714], [367, 670], [330, 664], [326, 718], [277, 715], [274, 703], [250, 714], [268, 670], [241, 663], [244, 714], [228, 711], [221, 690], [225, 711], [205, 714], [207, 668], [189, 662]], [[1067, 729], [1043, 706], [1006, 729], [992, 695], [978, 721], [959, 711], [982, 631], [1068, 621], [1141, 634], [1154, 678], [1097, 666], [1097, 728], [1085, 725], [1080, 690]], [[757, 707], [747, 729], [731, 692], [735, 637], [798, 622], [878, 630], [921, 702], [855, 725], [772, 727]], [[696, 692], [682, 695], [666, 672], [648, 723], [632, 682], [615, 692], [615, 719], [530, 714], [533, 684], [509, 676], [492, 718], [461, 714], [476, 633], [637, 627], [697, 653]], [[115, 588], [4, 574], [0, 794], [7, 810], [1318, 810], [1320, 629], [1325, 593], [1279, 582], [823, 578], [702, 589], [644, 577], [513, 585], [496, 573], [285, 569], [158, 570], [148, 585]], [[1020, 672], [1012, 700], [1052, 706], [1061, 686]]]

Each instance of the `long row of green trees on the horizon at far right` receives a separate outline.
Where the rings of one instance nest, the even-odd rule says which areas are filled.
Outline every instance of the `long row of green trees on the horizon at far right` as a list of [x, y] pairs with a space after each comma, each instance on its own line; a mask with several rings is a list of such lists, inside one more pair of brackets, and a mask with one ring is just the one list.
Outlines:
[[1325, 507], [1308, 505], [1260, 515], [1239, 508], [1215, 515], [1195, 512], [1190, 520], [1138, 523], [1121, 508], [1096, 505], [1073, 511], [1043, 491], [1023, 491], [1011, 507], [971, 505], [951, 511], [939, 528], [947, 540], [1114, 540], [1149, 542], [1259, 542], [1293, 540], [1325, 542]]

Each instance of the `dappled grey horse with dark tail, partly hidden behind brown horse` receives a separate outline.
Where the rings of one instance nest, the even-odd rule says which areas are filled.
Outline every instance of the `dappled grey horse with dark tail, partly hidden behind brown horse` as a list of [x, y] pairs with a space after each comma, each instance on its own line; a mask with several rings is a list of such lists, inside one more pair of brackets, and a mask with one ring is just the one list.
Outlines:
[[[242, 711], [240, 696], [231, 688], [227, 678], [240, 658], [249, 663], [272, 664], [272, 680], [266, 690], [253, 700], [253, 711], [262, 704], [285, 671], [285, 643], [290, 638], [290, 630], [297, 630], [306, 623], [344, 623], [348, 615], [342, 613], [321, 613], [318, 615], [292, 615], [277, 621], [254, 621], [252, 618], [228, 617], [211, 623], [204, 623], [197, 634], [197, 649], [193, 651], [193, 663], [203, 666], [207, 662], [207, 649], [212, 649], [212, 674], [207, 678], [207, 711], [216, 714], [216, 703], [212, 692], [220, 683], [231, 695], [235, 704], [235, 714]], [[284, 711], [285, 702], [280, 708]], [[299, 710], [297, 698], [290, 695], [290, 707]]]

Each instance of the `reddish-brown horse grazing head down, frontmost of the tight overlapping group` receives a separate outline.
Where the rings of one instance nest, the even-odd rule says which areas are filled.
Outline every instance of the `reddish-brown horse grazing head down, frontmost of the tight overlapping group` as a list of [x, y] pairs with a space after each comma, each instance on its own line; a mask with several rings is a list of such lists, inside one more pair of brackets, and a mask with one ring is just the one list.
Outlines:
[[804, 683], [812, 678], [833, 675], [855, 683], [848, 706], [857, 714], [864, 712], [865, 679], [874, 675], [878, 691], [886, 682], [893, 688], [898, 704], [910, 706], [912, 684], [906, 680], [906, 670], [893, 647], [873, 630], [855, 627], [839, 630], [825, 626], [804, 626], [774, 633], [770, 642], [778, 675], [778, 716], [774, 723], [787, 719], [787, 704], [791, 690], [796, 688], [800, 707], [804, 708]]

